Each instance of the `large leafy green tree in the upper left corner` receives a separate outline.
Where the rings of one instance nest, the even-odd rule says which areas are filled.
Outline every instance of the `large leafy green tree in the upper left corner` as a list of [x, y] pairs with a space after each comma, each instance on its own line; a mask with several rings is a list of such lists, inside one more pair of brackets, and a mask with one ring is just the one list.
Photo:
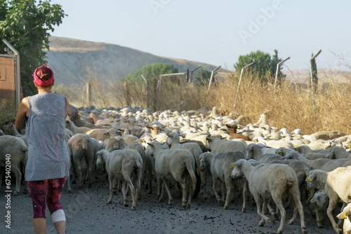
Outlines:
[[[60, 4], [50, 0], [0, 0], [0, 38], [6, 39], [20, 53], [20, 76], [24, 96], [33, 95], [34, 69], [46, 64], [49, 32], [60, 25], [65, 13]], [[5, 45], [1, 43], [0, 50]]]

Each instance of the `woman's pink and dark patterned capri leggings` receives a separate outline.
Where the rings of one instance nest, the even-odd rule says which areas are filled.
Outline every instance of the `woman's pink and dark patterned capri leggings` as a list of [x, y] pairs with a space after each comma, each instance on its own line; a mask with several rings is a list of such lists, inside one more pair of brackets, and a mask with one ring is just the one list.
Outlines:
[[60, 196], [65, 181], [66, 177], [28, 181], [28, 190], [33, 202], [33, 219], [45, 218], [46, 205], [50, 214], [62, 209]]

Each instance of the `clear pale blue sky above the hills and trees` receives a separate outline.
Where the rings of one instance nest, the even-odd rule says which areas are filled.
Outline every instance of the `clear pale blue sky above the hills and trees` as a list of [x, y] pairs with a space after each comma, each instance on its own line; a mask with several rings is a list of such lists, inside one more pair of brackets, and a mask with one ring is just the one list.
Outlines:
[[[51, 36], [111, 43], [154, 55], [234, 69], [261, 50], [283, 69], [350, 71], [351, 1], [51, 0], [67, 16]], [[350, 62], [349, 62], [350, 61]], [[346, 63], [346, 65], [345, 65]]]

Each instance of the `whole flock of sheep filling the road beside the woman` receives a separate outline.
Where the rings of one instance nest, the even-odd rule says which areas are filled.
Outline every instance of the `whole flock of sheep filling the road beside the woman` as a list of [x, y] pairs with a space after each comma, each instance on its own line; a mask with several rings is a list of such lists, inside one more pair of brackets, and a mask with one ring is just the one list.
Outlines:
[[[69, 192], [71, 181], [77, 180], [78, 188], [84, 186], [84, 180], [91, 186], [99, 171], [109, 179], [107, 203], [112, 202], [112, 193], [118, 188], [125, 206], [131, 194], [131, 209], [136, 209], [145, 185], [160, 202], [166, 188], [168, 205], [172, 204], [173, 191], [180, 191], [182, 205], [187, 208], [192, 199], [201, 197], [206, 202], [214, 194], [224, 209], [242, 199], [242, 212], [246, 212], [249, 200], [257, 206], [258, 226], [273, 224], [280, 216], [277, 233], [284, 231], [286, 209], [291, 204], [289, 224], [300, 216], [302, 233], [307, 233], [305, 214], [314, 215], [322, 228], [325, 213], [336, 233], [351, 233], [351, 137], [342, 132], [303, 135], [299, 129], [277, 130], [268, 124], [267, 111], [257, 123], [244, 125], [242, 116], [220, 116], [216, 107], [179, 113], [130, 106], [69, 106], [66, 139], [72, 162]], [[13, 195], [17, 195], [27, 144], [23, 132], [15, 130], [13, 124], [0, 130], [1, 178], [6, 155], [11, 155], [11, 174], [16, 179]], [[156, 192], [152, 191], [153, 183], [157, 184]], [[333, 209], [338, 202], [343, 208], [336, 223]], [[305, 210], [303, 203], [308, 207]]]

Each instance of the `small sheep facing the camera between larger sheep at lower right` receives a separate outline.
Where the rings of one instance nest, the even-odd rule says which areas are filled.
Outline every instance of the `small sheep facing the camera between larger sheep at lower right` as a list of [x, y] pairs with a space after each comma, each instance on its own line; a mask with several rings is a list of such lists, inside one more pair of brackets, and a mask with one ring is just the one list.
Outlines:
[[319, 189], [319, 191], [315, 192], [313, 198], [310, 200], [310, 203], [312, 203], [314, 214], [316, 215], [317, 226], [322, 228], [324, 222], [324, 212], [329, 204], [329, 198], [324, 189]]

